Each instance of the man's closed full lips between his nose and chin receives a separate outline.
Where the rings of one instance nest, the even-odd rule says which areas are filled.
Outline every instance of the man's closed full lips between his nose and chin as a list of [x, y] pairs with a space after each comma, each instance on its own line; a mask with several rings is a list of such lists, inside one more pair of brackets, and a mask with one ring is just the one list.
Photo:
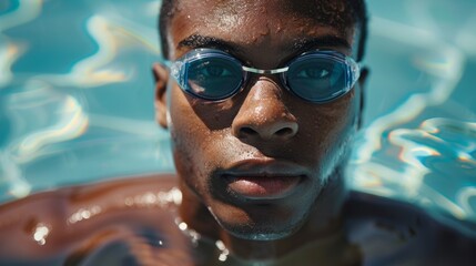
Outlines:
[[226, 190], [249, 200], [277, 200], [292, 195], [307, 176], [303, 167], [275, 160], [246, 160], [220, 175]]

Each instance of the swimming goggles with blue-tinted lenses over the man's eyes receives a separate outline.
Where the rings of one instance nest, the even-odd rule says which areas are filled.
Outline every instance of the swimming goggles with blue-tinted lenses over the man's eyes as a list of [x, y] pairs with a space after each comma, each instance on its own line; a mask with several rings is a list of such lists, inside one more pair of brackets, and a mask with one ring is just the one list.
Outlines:
[[282, 84], [295, 95], [313, 103], [333, 101], [354, 86], [361, 74], [352, 58], [336, 51], [302, 53], [285, 66], [261, 70], [245, 66], [234, 57], [215, 49], [195, 49], [168, 62], [171, 75], [188, 94], [222, 101], [239, 93], [250, 73], [280, 74]]

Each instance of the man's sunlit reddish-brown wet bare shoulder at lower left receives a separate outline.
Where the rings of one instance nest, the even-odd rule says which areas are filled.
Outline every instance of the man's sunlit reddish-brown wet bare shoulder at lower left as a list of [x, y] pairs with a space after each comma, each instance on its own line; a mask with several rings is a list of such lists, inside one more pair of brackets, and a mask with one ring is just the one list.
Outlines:
[[[42, 192], [3, 204], [0, 236], [9, 241], [0, 243], [0, 264], [77, 265], [172, 256], [188, 265], [181, 250], [190, 241], [176, 226], [180, 196], [173, 175], [154, 175]], [[111, 252], [115, 256], [104, 256]]]

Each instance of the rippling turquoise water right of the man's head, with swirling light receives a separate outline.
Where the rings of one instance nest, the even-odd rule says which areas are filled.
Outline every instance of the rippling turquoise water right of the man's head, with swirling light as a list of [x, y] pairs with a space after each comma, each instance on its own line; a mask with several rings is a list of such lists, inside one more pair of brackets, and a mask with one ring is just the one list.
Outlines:
[[[393, 54], [369, 63], [375, 70], [372, 78], [377, 80], [371, 93], [377, 94], [381, 104], [389, 103], [388, 94], [398, 95], [399, 101], [392, 102], [386, 112], [367, 115], [374, 119], [357, 141], [348, 176], [358, 190], [415, 202], [442, 219], [449, 213], [474, 223], [476, 109], [472, 103], [476, 99], [467, 76], [476, 68], [474, 51], [467, 48], [476, 44], [476, 34], [468, 28], [476, 18], [476, 6], [469, 1], [459, 6], [449, 1], [404, 3], [399, 8], [407, 17], [376, 17], [371, 27], [374, 38], [382, 39], [374, 48], [386, 45], [395, 57], [404, 57], [391, 61], [401, 69], [384, 65]], [[447, 20], [448, 9], [468, 16]], [[378, 66], [386, 70], [385, 78]], [[462, 101], [462, 94], [468, 99]], [[382, 110], [373, 105], [372, 98], [371, 110]], [[474, 224], [459, 227], [475, 232]]]

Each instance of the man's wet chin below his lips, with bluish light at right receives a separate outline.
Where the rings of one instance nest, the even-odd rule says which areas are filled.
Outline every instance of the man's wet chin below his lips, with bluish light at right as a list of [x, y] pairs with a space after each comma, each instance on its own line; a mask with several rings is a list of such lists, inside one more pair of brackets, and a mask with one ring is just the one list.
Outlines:
[[[317, 182], [315, 182], [317, 183]], [[284, 198], [216, 196], [209, 212], [230, 235], [246, 241], [278, 241], [296, 234], [310, 218], [321, 188], [307, 184]], [[226, 201], [226, 202], [225, 202]]]

